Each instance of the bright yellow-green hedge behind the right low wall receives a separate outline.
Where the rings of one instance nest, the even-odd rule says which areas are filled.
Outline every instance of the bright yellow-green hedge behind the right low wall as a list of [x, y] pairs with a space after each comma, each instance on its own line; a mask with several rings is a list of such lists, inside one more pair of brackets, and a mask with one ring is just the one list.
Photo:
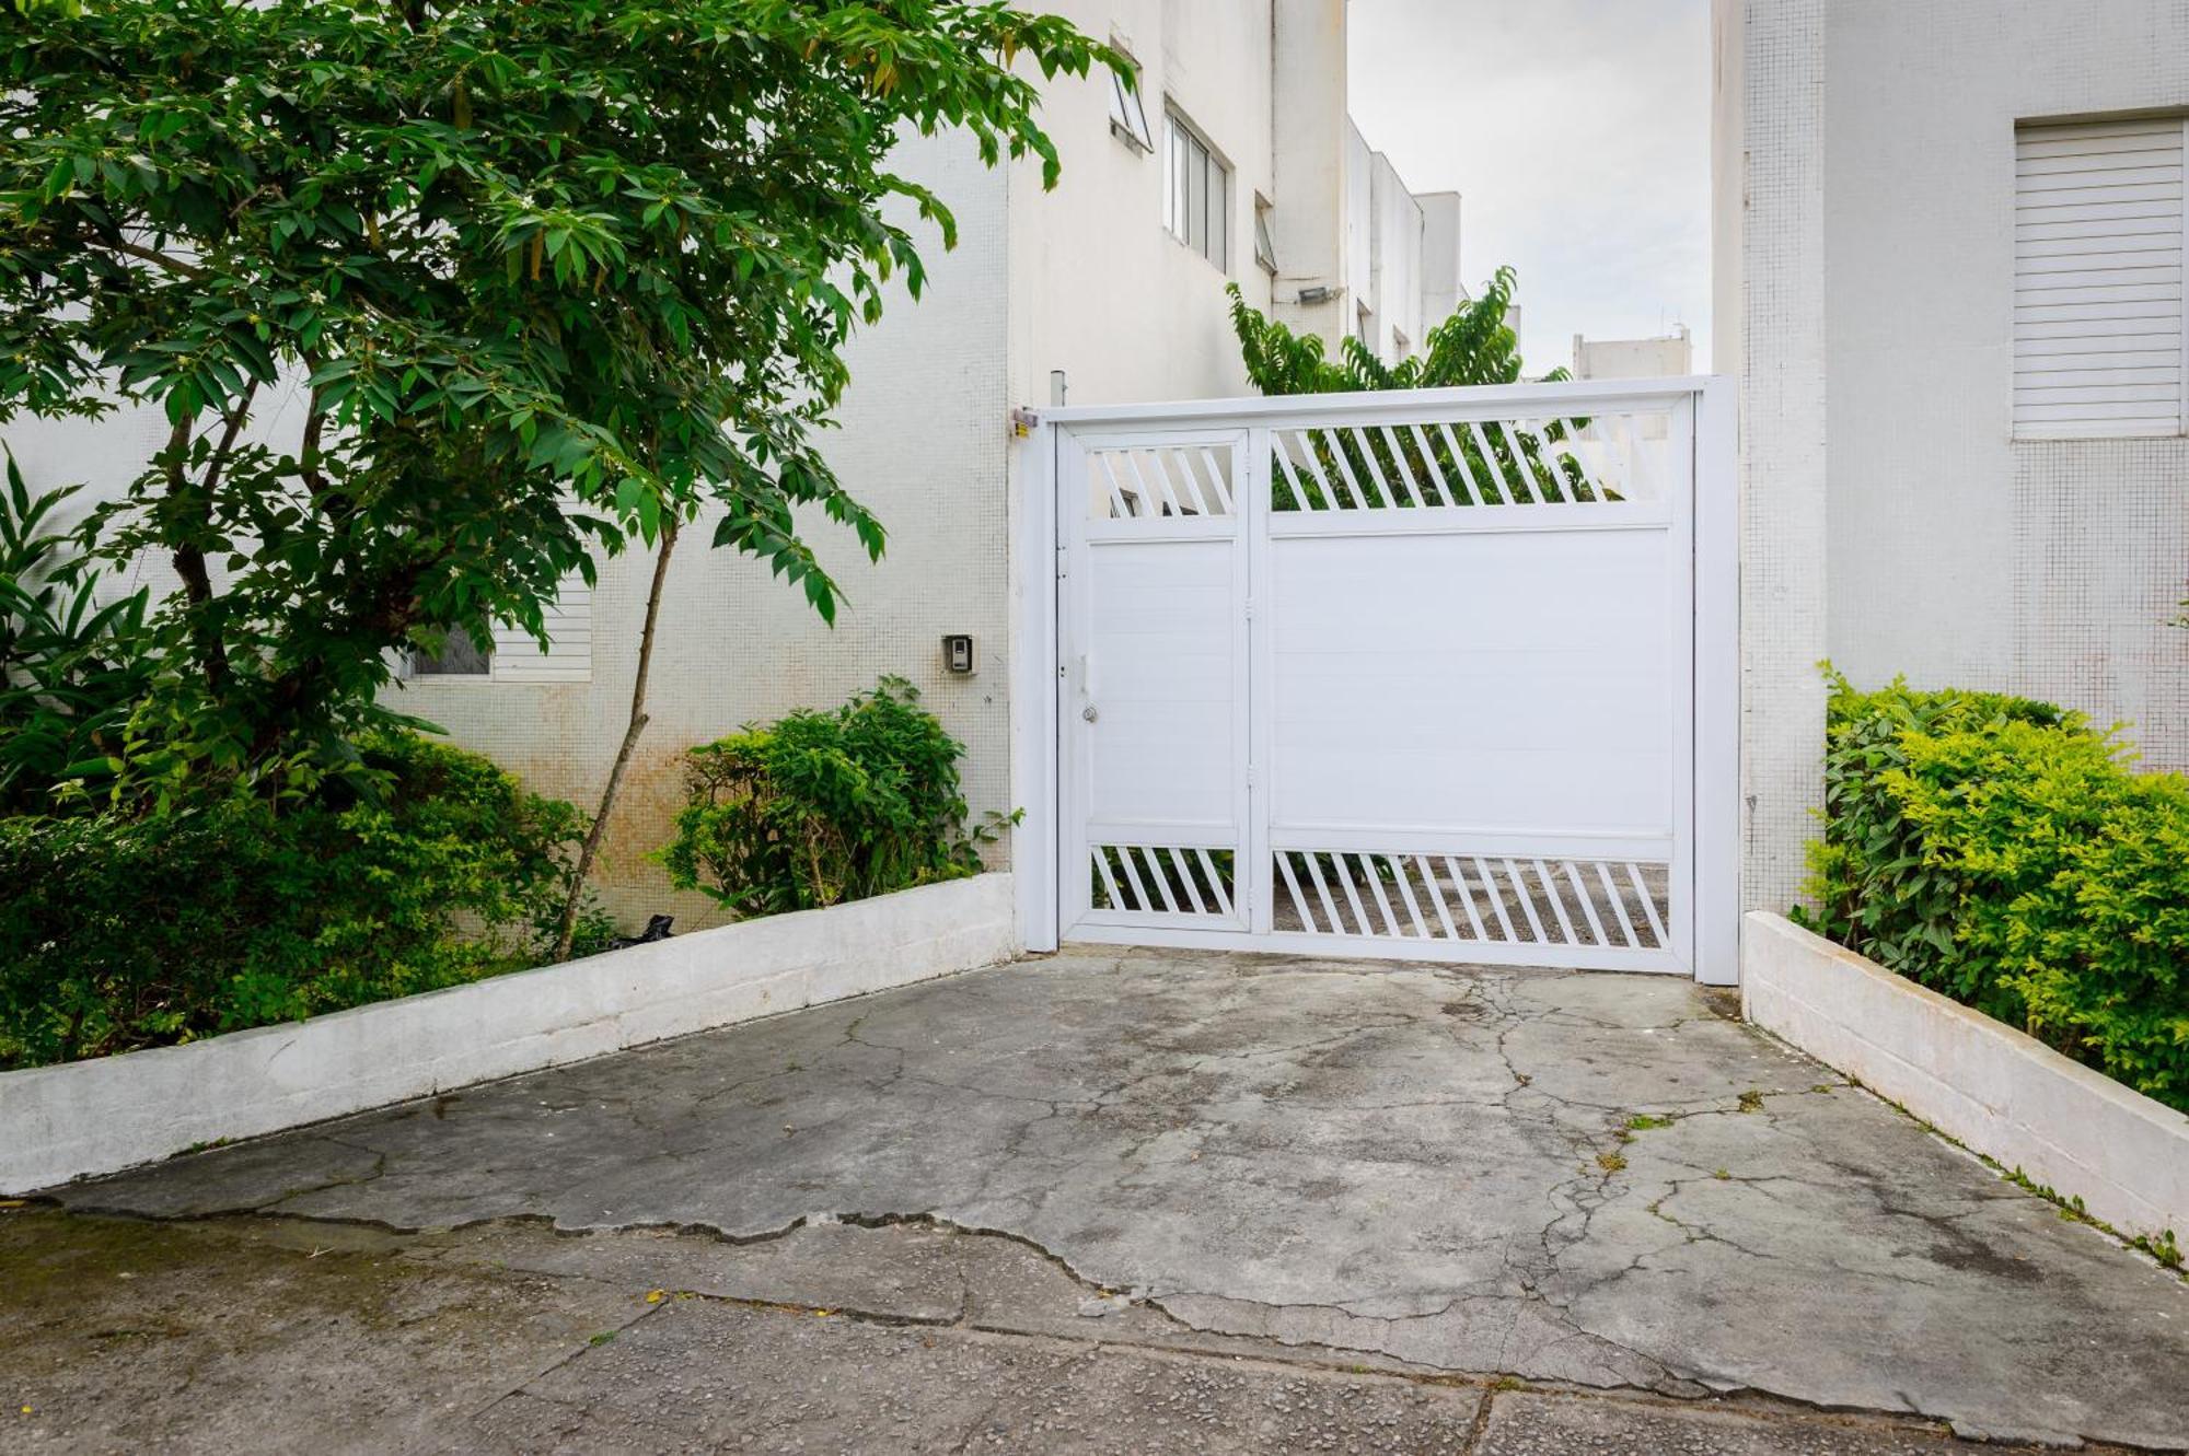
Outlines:
[[2189, 1111], [2189, 778], [2080, 715], [1832, 680], [1812, 929]]

